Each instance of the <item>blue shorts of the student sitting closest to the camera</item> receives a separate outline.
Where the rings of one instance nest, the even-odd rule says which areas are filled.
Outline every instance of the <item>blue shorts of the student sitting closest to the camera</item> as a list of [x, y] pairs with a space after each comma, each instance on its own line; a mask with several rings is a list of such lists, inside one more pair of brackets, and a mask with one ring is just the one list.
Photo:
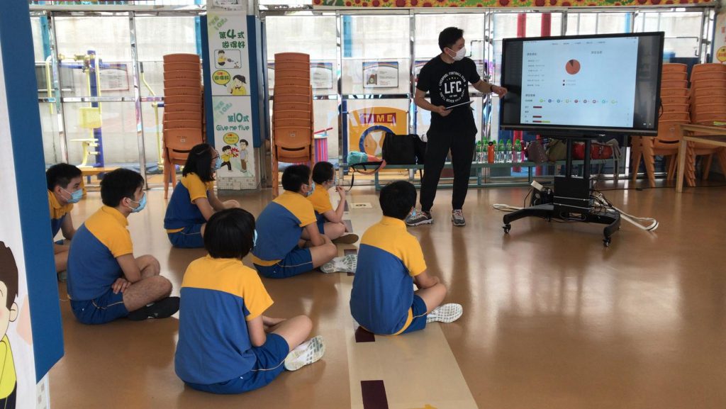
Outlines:
[[277, 378], [285, 370], [285, 357], [290, 352], [282, 336], [277, 333], [267, 334], [267, 340], [261, 347], [252, 347], [251, 351], [257, 357], [257, 362], [248, 373], [242, 374], [229, 381], [219, 384], [192, 384], [187, 385], [194, 389], [216, 394], [238, 394], [259, 389]]

